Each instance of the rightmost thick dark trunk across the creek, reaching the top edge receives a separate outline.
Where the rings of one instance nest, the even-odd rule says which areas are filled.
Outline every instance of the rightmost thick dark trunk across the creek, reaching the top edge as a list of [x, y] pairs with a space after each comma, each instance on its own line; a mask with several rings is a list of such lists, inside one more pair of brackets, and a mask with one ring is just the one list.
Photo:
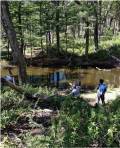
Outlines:
[[95, 44], [95, 50], [98, 50], [98, 2], [94, 1], [95, 3], [95, 27], [94, 27], [94, 44]]

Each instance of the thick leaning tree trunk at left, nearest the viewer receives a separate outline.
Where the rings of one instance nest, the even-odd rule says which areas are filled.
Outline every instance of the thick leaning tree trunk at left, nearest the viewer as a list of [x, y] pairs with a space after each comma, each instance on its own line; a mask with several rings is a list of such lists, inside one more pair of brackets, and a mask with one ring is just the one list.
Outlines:
[[13, 27], [13, 24], [10, 18], [10, 12], [9, 12], [7, 1], [1, 2], [1, 20], [2, 20], [2, 24], [6, 32], [6, 35], [9, 39], [11, 49], [13, 51], [13, 62], [14, 64], [18, 65], [19, 76], [20, 76], [21, 82], [25, 82], [26, 62], [25, 62], [23, 54], [21, 53], [19, 49], [19, 45], [16, 39], [16, 32], [14, 30], [14, 27]]

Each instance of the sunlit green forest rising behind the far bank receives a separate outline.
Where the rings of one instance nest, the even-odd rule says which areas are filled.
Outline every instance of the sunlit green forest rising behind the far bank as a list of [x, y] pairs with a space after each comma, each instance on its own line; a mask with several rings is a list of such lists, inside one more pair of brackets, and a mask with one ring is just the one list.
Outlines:
[[49, 55], [56, 45], [53, 52], [57, 55], [63, 50], [73, 50], [73, 54], [79, 50], [80, 54], [86, 54], [86, 59], [92, 41], [97, 50], [100, 37], [102, 40], [103, 36], [118, 34], [119, 10], [119, 2], [98, 0], [9, 2], [11, 21], [21, 51], [26, 45], [26, 50], [30, 46], [32, 50], [37, 47], [41, 51], [42, 48], [42, 53]]

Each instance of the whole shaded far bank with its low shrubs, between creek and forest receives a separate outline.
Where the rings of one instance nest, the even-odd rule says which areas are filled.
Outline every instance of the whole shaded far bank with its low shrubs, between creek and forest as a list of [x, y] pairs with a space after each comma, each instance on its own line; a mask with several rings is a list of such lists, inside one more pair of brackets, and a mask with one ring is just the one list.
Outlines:
[[[99, 50], [85, 55], [79, 56], [74, 53], [64, 52], [57, 55], [52, 51], [52, 54], [40, 52], [36, 57], [26, 58], [27, 64], [32, 66], [42, 67], [99, 67], [99, 68], [114, 68], [120, 67], [120, 47], [111, 47], [109, 50]], [[55, 49], [54, 49], [55, 50]], [[116, 50], [116, 51], [114, 51]]]

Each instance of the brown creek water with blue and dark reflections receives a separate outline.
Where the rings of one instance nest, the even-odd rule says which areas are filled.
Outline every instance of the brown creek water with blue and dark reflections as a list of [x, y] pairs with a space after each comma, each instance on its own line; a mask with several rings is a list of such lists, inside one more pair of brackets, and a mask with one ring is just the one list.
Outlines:
[[[12, 73], [18, 82], [18, 68], [12, 68]], [[7, 68], [1, 68], [1, 76], [9, 75]], [[27, 67], [27, 81], [33, 86], [55, 85], [60, 86], [66, 82], [73, 83], [80, 80], [85, 88], [94, 89], [99, 79], [104, 79], [109, 87], [120, 87], [120, 68], [109, 70], [88, 69], [70, 69], [70, 68], [41, 68]]]

